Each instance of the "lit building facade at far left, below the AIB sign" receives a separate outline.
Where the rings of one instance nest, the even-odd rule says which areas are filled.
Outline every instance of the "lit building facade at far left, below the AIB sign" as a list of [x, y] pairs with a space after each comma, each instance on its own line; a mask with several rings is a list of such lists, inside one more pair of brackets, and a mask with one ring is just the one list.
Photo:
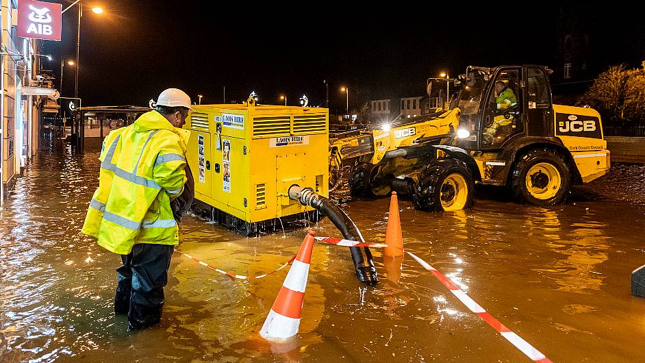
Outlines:
[[0, 205], [38, 150], [38, 40], [17, 35], [18, 1], [0, 0]]

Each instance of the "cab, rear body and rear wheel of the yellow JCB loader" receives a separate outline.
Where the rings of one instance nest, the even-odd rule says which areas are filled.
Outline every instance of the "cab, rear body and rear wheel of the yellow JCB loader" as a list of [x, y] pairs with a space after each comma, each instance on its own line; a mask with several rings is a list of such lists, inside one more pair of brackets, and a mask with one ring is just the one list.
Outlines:
[[[459, 130], [469, 134], [455, 145], [477, 162], [479, 183], [509, 186], [521, 201], [539, 205], [559, 203], [570, 186], [609, 170], [600, 115], [554, 105], [550, 73], [536, 65], [469, 66], [455, 100]], [[507, 107], [501, 88], [515, 97]]]

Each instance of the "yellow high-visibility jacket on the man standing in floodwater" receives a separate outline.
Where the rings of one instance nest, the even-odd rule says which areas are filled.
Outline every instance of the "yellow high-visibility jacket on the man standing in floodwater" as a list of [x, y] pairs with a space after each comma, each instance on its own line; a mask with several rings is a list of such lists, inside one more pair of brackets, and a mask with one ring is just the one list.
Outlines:
[[136, 243], [177, 245], [170, 199], [184, 190], [189, 136], [156, 111], [110, 132], [99, 157], [99, 188], [81, 232], [121, 255]]

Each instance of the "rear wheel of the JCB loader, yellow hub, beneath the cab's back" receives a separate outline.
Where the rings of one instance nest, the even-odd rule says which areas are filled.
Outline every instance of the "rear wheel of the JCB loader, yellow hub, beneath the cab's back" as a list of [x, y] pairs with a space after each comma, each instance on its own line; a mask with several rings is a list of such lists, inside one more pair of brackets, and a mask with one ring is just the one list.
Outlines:
[[569, 168], [552, 149], [522, 155], [513, 169], [513, 192], [524, 203], [553, 205], [564, 201], [570, 188]]

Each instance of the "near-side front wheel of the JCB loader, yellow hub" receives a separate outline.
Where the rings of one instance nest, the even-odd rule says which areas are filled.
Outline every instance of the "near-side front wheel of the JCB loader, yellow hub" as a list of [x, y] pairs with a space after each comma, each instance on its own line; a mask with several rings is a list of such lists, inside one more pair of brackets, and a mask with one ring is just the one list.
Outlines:
[[437, 160], [425, 166], [413, 195], [420, 210], [451, 212], [470, 208], [475, 182], [461, 160]]

